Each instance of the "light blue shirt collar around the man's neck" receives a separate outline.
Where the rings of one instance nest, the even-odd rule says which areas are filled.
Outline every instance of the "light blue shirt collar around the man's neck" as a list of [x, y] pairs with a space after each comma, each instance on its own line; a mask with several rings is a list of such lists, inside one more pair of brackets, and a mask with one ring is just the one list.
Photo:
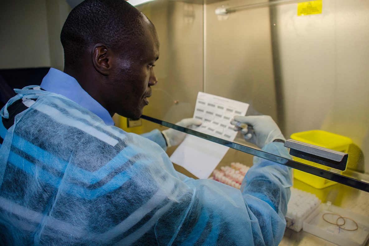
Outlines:
[[114, 125], [114, 121], [109, 112], [83, 90], [77, 80], [72, 76], [58, 69], [51, 68], [44, 79], [42, 79], [40, 87], [46, 91], [69, 98], [99, 116], [105, 124]]

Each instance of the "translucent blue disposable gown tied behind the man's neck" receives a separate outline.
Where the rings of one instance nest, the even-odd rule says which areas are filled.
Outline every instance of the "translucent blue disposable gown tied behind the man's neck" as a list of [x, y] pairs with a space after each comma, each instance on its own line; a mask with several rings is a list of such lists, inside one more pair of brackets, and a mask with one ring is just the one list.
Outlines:
[[[277, 245], [290, 169], [254, 158], [241, 193], [173, 169], [159, 145], [63, 96], [0, 124], [0, 240], [7, 245]], [[1, 111], [8, 117], [7, 108]], [[282, 143], [263, 149], [289, 157]]]

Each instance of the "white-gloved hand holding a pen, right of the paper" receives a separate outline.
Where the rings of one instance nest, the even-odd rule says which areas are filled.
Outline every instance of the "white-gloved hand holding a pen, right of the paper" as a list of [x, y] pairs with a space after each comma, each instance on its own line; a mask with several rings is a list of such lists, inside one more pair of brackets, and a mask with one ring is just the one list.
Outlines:
[[[247, 124], [248, 127], [245, 125], [241, 126], [238, 122]], [[235, 131], [239, 131], [241, 126], [241, 133], [244, 134], [244, 139], [250, 143], [254, 143], [259, 148], [263, 148], [275, 139], [286, 141], [276, 122], [268, 115], [235, 116], [231, 124], [239, 126], [234, 128]]]

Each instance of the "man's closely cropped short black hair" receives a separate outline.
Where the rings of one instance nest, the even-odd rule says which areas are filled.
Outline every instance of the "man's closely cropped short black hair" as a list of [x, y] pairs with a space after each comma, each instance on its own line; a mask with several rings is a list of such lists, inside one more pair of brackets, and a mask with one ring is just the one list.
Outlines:
[[69, 13], [60, 39], [65, 64], [77, 65], [90, 45], [124, 47], [143, 33], [142, 14], [125, 0], [85, 0]]

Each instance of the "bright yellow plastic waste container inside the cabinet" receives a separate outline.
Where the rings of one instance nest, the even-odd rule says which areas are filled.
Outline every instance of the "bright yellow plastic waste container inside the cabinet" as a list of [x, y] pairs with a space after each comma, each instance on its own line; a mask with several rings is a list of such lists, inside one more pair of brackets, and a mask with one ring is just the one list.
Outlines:
[[[291, 135], [291, 138], [300, 142], [310, 143], [313, 145], [345, 153], [348, 153], [349, 146], [352, 143], [352, 140], [348, 137], [323, 130], [296, 132]], [[330, 167], [324, 166], [322, 164], [310, 162], [308, 160], [304, 160], [298, 157], [293, 157], [293, 160], [296, 160], [297, 162], [301, 162], [310, 166], [318, 167], [324, 170], [331, 169]], [[336, 184], [336, 182], [334, 181], [324, 179], [322, 177], [318, 177], [310, 173], [305, 173], [297, 169], [294, 169], [293, 175], [295, 179], [301, 180], [304, 183], [309, 184], [310, 186], [313, 186], [318, 189]]]

